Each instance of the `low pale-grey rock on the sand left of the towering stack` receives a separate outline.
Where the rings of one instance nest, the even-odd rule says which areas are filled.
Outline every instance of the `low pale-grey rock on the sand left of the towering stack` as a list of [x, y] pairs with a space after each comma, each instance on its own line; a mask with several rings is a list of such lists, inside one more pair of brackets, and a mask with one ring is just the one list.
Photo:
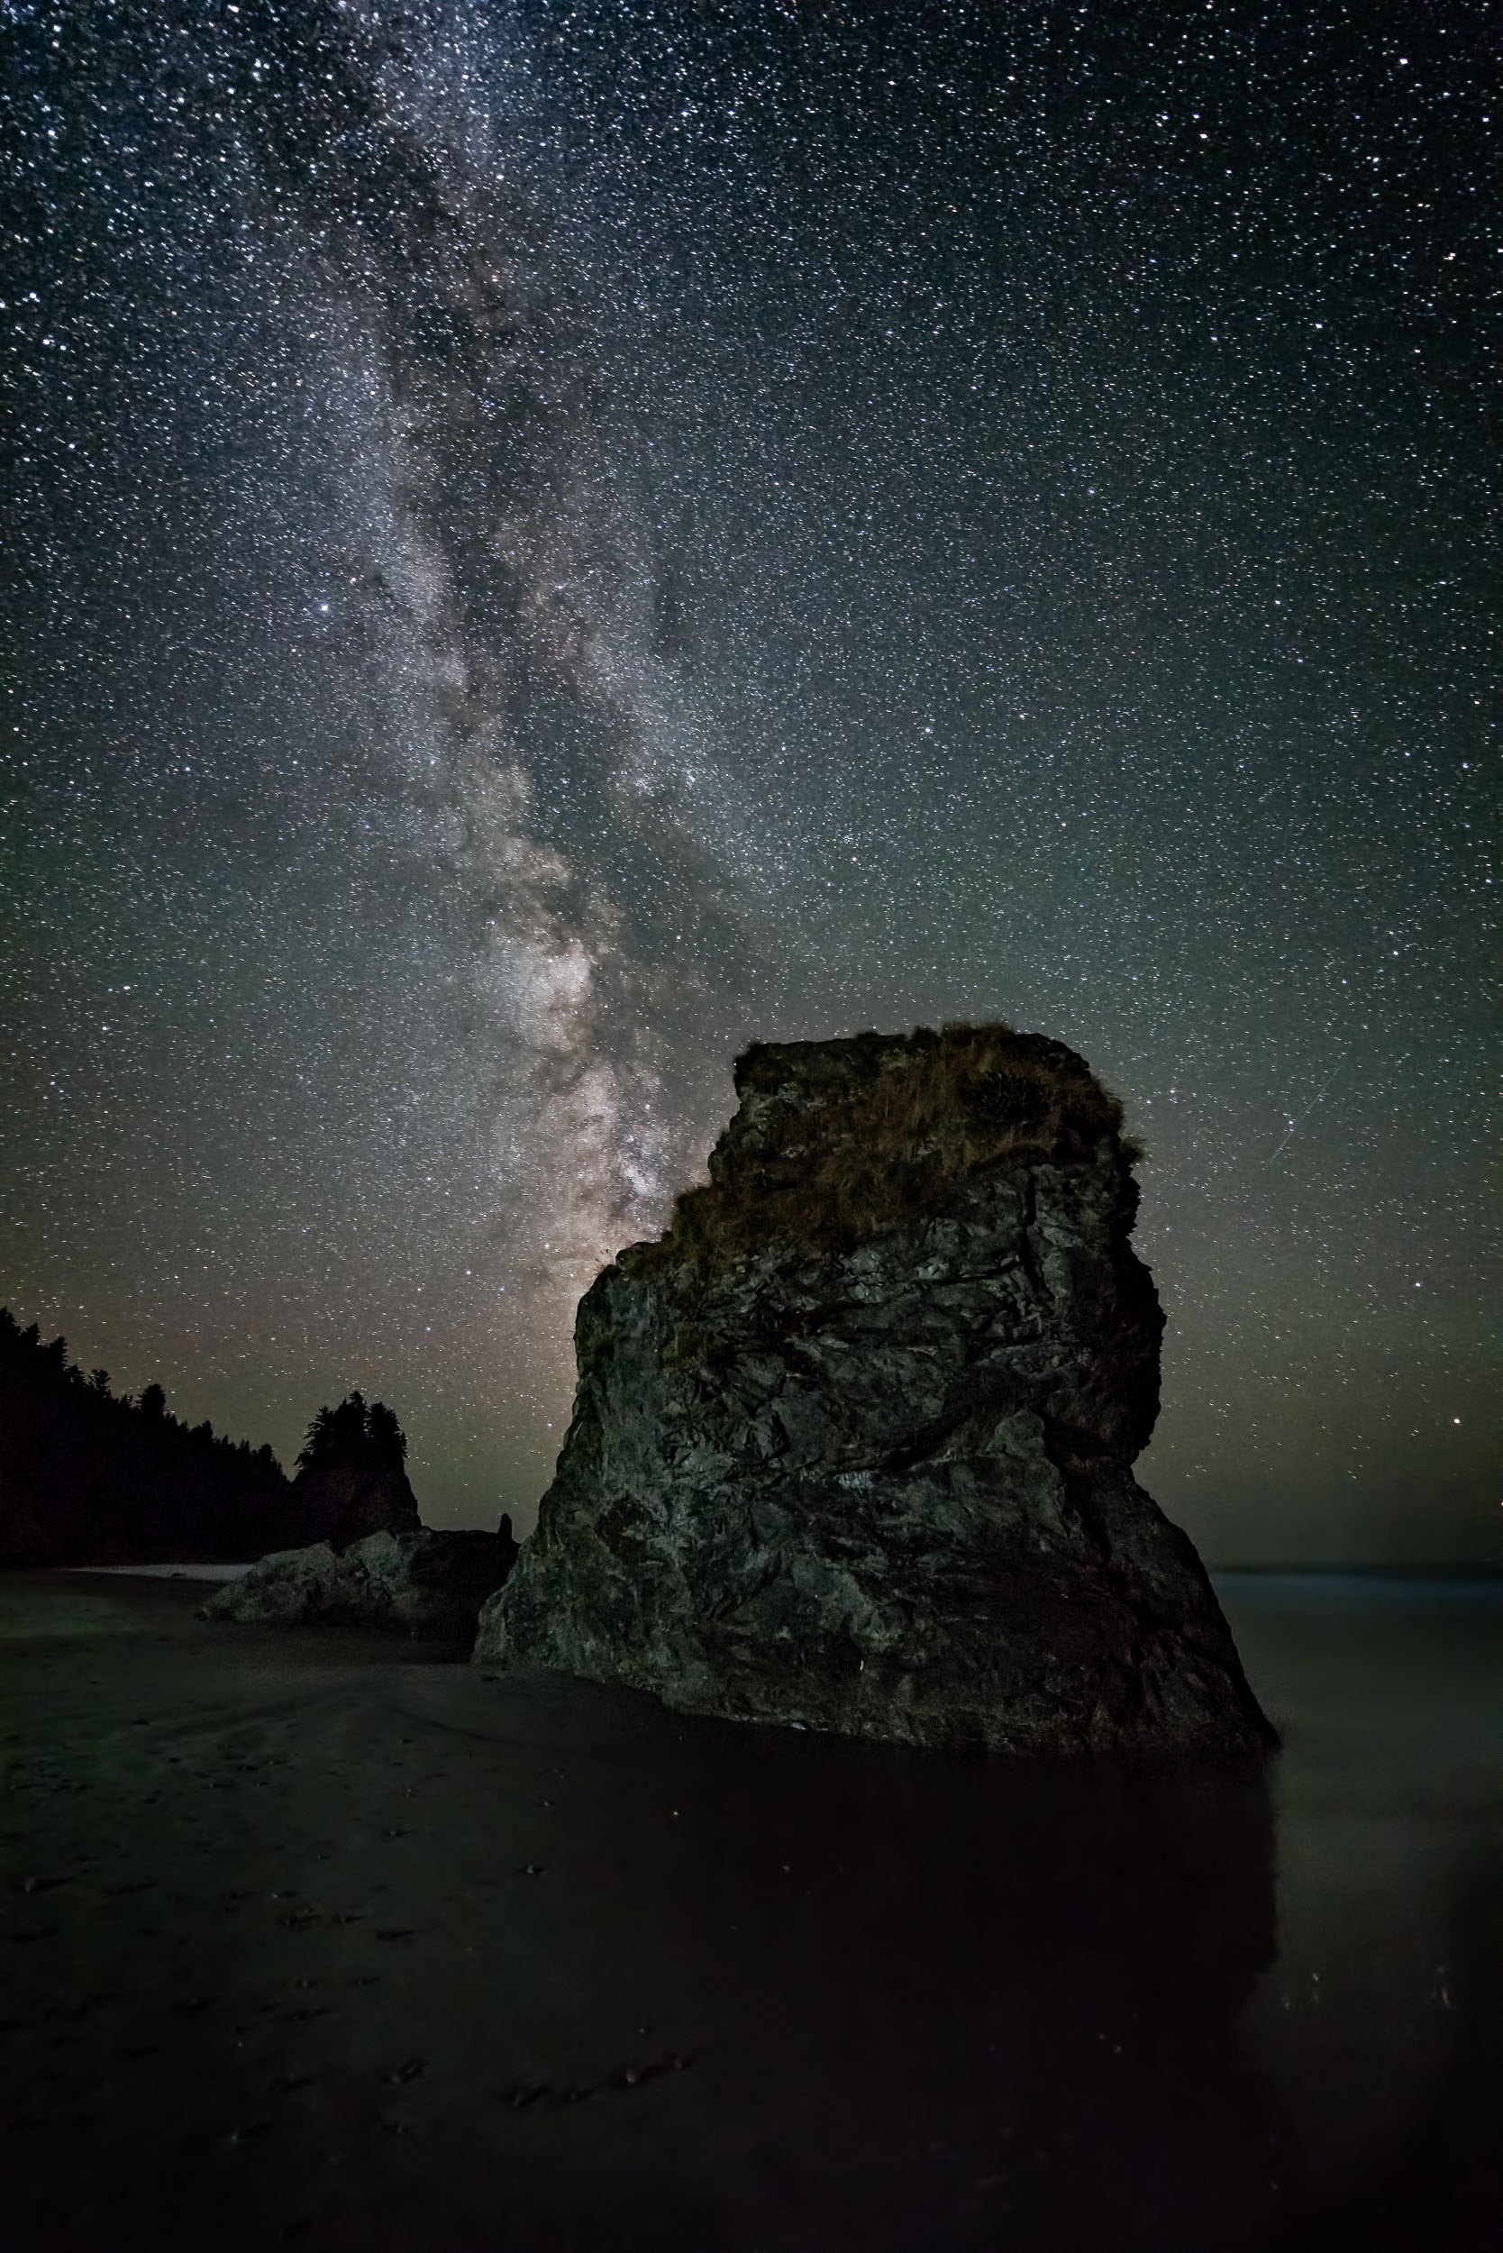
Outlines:
[[261, 1557], [203, 1606], [205, 1620], [259, 1627], [374, 1627], [383, 1633], [469, 1642], [487, 1595], [516, 1561], [509, 1519], [498, 1534], [379, 1532], [345, 1550], [311, 1548]]

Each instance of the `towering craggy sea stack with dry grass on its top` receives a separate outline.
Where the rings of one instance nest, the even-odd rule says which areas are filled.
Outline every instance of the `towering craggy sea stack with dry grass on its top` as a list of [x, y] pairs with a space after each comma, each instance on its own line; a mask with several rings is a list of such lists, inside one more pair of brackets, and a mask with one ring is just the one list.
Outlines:
[[750, 1048], [710, 1185], [575, 1329], [475, 1660], [1010, 1753], [1273, 1742], [1133, 1482], [1163, 1313], [1122, 1108], [1007, 1025]]

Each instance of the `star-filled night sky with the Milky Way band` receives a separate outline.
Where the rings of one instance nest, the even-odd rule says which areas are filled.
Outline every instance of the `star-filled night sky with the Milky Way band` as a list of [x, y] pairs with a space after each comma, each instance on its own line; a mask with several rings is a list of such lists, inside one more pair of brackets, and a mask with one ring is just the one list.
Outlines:
[[0, 0], [0, 1298], [525, 1528], [737, 1050], [1005, 1016], [1206, 1555], [1494, 1557], [1487, 14]]

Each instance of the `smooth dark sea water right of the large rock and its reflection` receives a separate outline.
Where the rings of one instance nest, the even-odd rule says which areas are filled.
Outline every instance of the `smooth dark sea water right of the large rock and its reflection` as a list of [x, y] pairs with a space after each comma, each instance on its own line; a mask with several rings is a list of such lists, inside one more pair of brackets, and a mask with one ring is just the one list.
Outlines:
[[1228, 1573], [1264, 1708], [1273, 1960], [1237, 2041], [1298, 2242], [1503, 2233], [1503, 1577]]

